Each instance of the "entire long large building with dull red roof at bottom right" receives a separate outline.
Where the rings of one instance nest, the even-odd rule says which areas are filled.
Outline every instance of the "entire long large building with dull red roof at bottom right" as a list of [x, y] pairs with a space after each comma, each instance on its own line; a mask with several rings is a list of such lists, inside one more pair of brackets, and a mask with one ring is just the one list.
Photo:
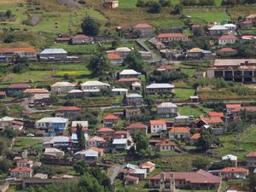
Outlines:
[[216, 190], [221, 186], [221, 177], [199, 170], [197, 172], [161, 172], [149, 178], [148, 186], [154, 189], [200, 189]]

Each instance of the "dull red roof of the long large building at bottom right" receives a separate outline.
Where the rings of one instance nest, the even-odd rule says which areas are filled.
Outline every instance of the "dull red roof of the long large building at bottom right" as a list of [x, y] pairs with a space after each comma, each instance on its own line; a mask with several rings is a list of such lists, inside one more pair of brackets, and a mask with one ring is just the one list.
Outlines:
[[[170, 180], [174, 173], [175, 180], [185, 180], [188, 183], [220, 183], [221, 177], [213, 176], [211, 173], [199, 170], [197, 172], [164, 172], [166, 180]], [[160, 180], [161, 174], [150, 177], [150, 180]]]

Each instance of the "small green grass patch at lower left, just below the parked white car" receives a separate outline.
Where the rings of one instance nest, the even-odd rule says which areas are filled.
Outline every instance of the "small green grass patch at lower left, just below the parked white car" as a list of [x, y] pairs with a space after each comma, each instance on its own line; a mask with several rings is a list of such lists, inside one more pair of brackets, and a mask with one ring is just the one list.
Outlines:
[[42, 148], [42, 139], [37, 138], [18, 138], [14, 144], [14, 150], [19, 151], [26, 148]]

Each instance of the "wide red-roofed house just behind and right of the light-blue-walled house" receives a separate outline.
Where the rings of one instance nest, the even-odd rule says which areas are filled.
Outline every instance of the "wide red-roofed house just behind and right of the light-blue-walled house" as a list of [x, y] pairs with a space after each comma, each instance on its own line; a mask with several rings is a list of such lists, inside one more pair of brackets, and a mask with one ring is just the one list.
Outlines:
[[75, 106], [63, 106], [55, 109], [55, 117], [72, 118], [82, 113], [82, 108]]

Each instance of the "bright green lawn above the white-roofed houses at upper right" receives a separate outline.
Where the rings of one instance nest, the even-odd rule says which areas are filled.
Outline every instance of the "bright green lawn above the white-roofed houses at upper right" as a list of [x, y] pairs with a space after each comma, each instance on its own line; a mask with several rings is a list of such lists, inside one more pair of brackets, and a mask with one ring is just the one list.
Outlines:
[[212, 23], [222, 22], [224, 19], [230, 19], [229, 15], [226, 14], [224, 8], [189, 8], [183, 9], [184, 15], [191, 16], [192, 23], [201, 20], [200, 23]]

